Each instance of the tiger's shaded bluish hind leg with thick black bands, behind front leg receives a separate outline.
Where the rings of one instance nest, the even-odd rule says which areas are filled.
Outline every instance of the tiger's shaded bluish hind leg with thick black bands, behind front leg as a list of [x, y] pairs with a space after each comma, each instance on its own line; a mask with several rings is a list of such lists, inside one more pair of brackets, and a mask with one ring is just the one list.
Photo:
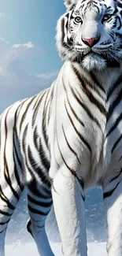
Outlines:
[[27, 228], [28, 232], [35, 239], [39, 254], [41, 256], [54, 256], [45, 229], [46, 217], [52, 206], [52, 195], [51, 191], [43, 186], [37, 184], [35, 180], [32, 180], [31, 184], [28, 185], [30, 221], [28, 221]]

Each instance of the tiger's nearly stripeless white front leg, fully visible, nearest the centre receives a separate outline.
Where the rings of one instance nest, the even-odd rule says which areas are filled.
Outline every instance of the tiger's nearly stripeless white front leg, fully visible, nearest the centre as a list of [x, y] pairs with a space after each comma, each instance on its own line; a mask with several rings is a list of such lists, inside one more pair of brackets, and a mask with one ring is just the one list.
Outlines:
[[87, 256], [83, 189], [66, 167], [58, 170], [52, 194], [63, 254]]

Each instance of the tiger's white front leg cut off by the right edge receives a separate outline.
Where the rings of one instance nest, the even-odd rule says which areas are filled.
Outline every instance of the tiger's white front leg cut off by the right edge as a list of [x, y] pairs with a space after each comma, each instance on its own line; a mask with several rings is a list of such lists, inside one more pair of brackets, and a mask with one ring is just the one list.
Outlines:
[[108, 256], [122, 255], [122, 174], [103, 188], [108, 225]]

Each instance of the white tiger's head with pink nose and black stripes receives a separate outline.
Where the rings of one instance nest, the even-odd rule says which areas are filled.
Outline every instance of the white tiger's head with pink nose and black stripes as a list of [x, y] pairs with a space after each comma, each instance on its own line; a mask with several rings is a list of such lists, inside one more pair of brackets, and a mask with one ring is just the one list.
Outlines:
[[61, 58], [84, 69], [106, 69], [122, 60], [122, 2], [67, 0], [68, 12], [57, 22]]

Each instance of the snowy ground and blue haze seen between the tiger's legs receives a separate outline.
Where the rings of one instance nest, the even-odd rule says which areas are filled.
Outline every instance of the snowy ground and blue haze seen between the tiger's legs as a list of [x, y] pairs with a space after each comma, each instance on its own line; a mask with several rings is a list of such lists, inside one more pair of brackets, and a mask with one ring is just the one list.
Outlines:
[[[86, 216], [88, 256], [106, 256], [106, 223], [100, 191], [92, 190], [88, 193], [86, 200]], [[24, 192], [7, 230], [6, 256], [39, 255], [33, 239], [26, 230], [27, 220], [27, 200]], [[57, 223], [54, 218], [53, 209], [47, 219], [46, 231], [55, 256], [61, 256], [61, 239], [57, 231]]]

